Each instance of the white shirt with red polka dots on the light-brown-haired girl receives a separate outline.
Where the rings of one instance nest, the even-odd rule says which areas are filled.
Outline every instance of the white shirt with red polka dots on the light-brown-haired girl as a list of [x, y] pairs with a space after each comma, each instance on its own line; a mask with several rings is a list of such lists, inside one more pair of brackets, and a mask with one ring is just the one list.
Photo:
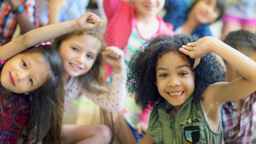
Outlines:
[[110, 88], [104, 86], [94, 85], [97, 88], [106, 91], [104, 93], [91, 93], [86, 89], [83, 89], [78, 84], [77, 77], [71, 77], [68, 84], [64, 85], [65, 89], [65, 107], [64, 107], [64, 116], [70, 110], [73, 101], [76, 100], [76, 97], [82, 93], [101, 108], [104, 108], [110, 112], [121, 112], [124, 108], [124, 101], [126, 95], [126, 86], [125, 86], [125, 75], [118, 75], [113, 73], [112, 83]]

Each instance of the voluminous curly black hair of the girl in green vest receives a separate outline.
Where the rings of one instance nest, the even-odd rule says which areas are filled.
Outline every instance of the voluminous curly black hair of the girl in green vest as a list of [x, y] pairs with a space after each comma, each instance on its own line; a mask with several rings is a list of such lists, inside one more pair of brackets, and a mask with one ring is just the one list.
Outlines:
[[[156, 65], [158, 59], [168, 52], [178, 53], [183, 59], [188, 60], [193, 69], [195, 59], [181, 53], [179, 48], [187, 43], [196, 42], [195, 36], [176, 35], [176, 36], [157, 36], [146, 42], [132, 56], [130, 61], [130, 71], [127, 78], [128, 91], [135, 95], [135, 100], [142, 109], [154, 106], [162, 96], [157, 90], [156, 83]], [[225, 81], [224, 68], [216, 60], [215, 55], [207, 53], [204, 55], [199, 65], [193, 69], [195, 73], [195, 90], [193, 92], [194, 100], [198, 104], [203, 100], [202, 94], [209, 84]]]

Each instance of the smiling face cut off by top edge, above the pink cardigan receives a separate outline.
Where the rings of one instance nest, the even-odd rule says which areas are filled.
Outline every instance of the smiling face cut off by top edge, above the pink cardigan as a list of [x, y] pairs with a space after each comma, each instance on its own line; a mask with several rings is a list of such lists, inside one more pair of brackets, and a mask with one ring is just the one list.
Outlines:
[[165, 0], [134, 0], [137, 12], [140, 14], [156, 15], [164, 8]]

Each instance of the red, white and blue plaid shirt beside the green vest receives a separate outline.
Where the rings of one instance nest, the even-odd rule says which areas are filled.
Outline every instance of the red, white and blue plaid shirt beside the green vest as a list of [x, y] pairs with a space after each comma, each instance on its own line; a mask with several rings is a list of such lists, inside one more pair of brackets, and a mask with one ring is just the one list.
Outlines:
[[241, 99], [241, 110], [236, 111], [233, 101], [223, 103], [221, 107], [223, 137], [225, 144], [249, 144], [252, 140], [253, 109], [256, 92]]

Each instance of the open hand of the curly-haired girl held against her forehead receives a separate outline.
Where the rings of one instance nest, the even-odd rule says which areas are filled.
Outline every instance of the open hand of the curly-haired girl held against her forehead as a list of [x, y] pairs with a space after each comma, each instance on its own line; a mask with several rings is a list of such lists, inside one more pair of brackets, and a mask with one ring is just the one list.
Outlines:
[[206, 36], [194, 43], [188, 43], [187, 45], [182, 45], [179, 49], [180, 52], [188, 55], [190, 58], [195, 59], [194, 68], [199, 64], [200, 59], [209, 52], [212, 52], [212, 44], [219, 41], [218, 39]]

